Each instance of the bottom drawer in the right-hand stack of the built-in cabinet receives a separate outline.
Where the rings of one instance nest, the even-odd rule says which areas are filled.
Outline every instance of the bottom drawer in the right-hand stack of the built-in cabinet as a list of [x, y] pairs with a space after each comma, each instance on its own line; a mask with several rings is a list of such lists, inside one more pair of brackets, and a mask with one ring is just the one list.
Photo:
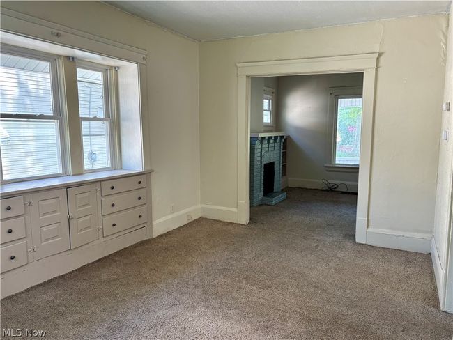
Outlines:
[[102, 229], [104, 236], [112, 235], [120, 231], [144, 224], [148, 220], [146, 206], [131, 210], [117, 212], [109, 217], [102, 218]]

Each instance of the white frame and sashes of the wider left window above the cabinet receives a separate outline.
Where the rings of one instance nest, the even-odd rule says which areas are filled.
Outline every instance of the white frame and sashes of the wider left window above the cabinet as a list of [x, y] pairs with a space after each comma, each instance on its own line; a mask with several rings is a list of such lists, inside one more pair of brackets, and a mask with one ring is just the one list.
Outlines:
[[11, 180], [4, 180], [3, 179], [3, 167], [1, 162], [1, 153], [0, 153], [0, 182], [1, 184], [7, 183], [16, 183], [16, 182], [23, 182], [25, 180], [38, 180], [43, 178], [54, 178], [54, 177], [61, 177], [68, 175], [68, 155], [66, 153], [66, 146], [67, 146], [67, 139], [66, 136], [66, 121], [67, 117], [63, 114], [63, 110], [61, 109], [61, 96], [60, 91], [62, 84], [59, 84], [59, 63], [58, 58], [54, 54], [49, 54], [45, 52], [38, 52], [33, 49], [26, 49], [23, 47], [15, 47], [12, 45], [5, 45], [1, 44], [1, 52], [4, 54], [13, 54], [15, 56], [23, 56], [25, 58], [30, 59], [38, 59], [42, 61], [47, 61], [50, 63], [50, 81], [52, 84], [52, 110], [54, 115], [34, 115], [34, 114], [1, 114], [1, 118], [9, 118], [9, 119], [33, 119], [33, 120], [55, 120], [59, 121], [59, 144], [57, 147], [59, 148], [60, 154], [60, 162], [61, 162], [61, 173], [52, 173], [49, 175], [43, 176], [29, 176], [29, 177], [21, 177], [21, 178], [14, 178]]

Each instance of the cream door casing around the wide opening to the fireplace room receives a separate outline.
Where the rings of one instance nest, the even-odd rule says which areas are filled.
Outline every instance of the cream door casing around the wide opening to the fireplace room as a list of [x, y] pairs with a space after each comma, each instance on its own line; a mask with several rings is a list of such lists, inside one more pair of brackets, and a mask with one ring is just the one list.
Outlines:
[[367, 242], [374, 86], [378, 53], [238, 63], [238, 223], [250, 220], [250, 78], [363, 72], [362, 137], [358, 180], [356, 242]]

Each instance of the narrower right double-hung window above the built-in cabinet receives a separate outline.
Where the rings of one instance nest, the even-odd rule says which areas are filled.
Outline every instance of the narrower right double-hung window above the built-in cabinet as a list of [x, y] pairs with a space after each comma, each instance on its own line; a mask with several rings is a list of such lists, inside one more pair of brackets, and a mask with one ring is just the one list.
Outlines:
[[84, 170], [112, 168], [112, 118], [107, 67], [77, 65]]

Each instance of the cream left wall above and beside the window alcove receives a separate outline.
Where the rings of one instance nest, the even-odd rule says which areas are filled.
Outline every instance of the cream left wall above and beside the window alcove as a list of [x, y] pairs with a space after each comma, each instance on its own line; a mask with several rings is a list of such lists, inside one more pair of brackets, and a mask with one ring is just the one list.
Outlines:
[[171, 205], [176, 213], [199, 211], [198, 43], [100, 2], [2, 1], [1, 6], [148, 51], [144, 95], [151, 154], [145, 157], [155, 170], [153, 221], [171, 215]]

